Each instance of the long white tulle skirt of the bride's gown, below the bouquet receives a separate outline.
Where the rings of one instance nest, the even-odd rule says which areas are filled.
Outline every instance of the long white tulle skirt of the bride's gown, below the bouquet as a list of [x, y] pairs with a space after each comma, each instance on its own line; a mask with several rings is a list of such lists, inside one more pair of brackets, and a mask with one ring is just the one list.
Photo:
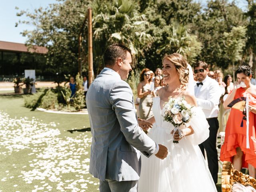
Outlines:
[[193, 136], [172, 142], [170, 129], [154, 127], [148, 133], [157, 144], [168, 148], [164, 160], [142, 155], [139, 192], [217, 192], [212, 176]]

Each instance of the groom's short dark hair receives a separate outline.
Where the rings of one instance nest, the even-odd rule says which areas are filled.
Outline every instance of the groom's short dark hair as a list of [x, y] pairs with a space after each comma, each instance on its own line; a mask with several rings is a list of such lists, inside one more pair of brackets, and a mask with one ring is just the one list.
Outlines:
[[117, 58], [122, 58], [125, 60], [127, 56], [127, 52], [131, 54], [131, 50], [119, 43], [112, 44], [108, 46], [106, 51], [104, 52], [104, 64], [106, 65], [113, 65], [116, 62]]

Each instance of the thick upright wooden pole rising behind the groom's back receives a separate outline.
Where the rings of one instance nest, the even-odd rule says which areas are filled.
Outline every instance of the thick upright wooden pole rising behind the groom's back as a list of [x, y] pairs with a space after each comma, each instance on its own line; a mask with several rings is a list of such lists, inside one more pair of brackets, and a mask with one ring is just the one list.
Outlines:
[[88, 76], [89, 76], [89, 86], [92, 83], [93, 78], [93, 64], [92, 64], [92, 8], [88, 8]]

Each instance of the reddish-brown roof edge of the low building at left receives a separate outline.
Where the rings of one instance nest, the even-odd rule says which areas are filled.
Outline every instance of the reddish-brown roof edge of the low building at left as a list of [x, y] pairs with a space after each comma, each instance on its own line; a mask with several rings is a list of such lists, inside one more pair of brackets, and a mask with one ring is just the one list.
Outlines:
[[22, 43], [13, 43], [0, 41], [0, 51], [12, 51], [12, 52], [30, 52], [30, 53], [39, 53], [46, 54], [48, 49], [42, 46], [33, 46], [32, 49], [28, 50], [25, 44]]

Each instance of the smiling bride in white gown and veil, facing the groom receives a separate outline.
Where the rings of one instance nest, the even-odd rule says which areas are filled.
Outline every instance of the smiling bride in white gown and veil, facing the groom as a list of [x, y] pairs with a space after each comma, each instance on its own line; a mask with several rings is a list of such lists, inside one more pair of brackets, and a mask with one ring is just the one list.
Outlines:
[[[197, 107], [194, 97], [192, 69], [180, 54], [164, 56], [162, 72], [168, 86], [159, 90], [153, 98], [153, 124], [148, 136], [168, 148], [168, 156], [160, 160], [155, 156], [142, 156], [142, 169], [138, 183], [139, 192], [217, 192], [212, 176], [198, 144], [209, 136], [209, 125], [204, 113]], [[190, 70], [188, 70], [190, 67]], [[189, 78], [190, 73], [190, 78]], [[191, 78], [192, 76], [192, 78]], [[190, 80], [189, 80], [190, 79]], [[174, 126], [163, 121], [165, 102], [169, 97], [184, 96], [195, 107], [194, 116], [183, 136], [178, 132], [172, 137]], [[173, 140], [178, 140], [174, 144]]]

